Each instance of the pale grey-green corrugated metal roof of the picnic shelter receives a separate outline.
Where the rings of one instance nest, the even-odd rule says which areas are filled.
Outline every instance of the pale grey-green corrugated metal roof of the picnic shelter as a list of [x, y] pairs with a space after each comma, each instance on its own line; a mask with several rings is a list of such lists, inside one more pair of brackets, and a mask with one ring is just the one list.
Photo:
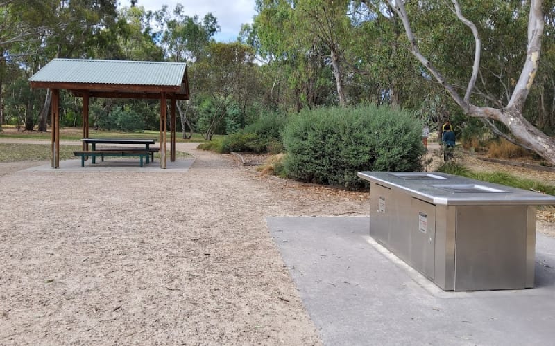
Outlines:
[[29, 81], [180, 86], [186, 67], [182, 62], [54, 59]]

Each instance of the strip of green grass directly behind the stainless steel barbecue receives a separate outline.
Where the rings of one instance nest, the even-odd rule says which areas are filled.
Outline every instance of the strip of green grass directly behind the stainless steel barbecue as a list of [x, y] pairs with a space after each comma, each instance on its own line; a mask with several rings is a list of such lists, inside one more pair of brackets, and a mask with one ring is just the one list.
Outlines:
[[499, 185], [511, 186], [522, 190], [543, 192], [555, 196], [555, 186], [535, 181], [532, 179], [519, 178], [503, 172], [475, 172], [459, 163], [447, 162], [437, 169], [437, 172], [465, 176], [466, 178], [486, 181]]

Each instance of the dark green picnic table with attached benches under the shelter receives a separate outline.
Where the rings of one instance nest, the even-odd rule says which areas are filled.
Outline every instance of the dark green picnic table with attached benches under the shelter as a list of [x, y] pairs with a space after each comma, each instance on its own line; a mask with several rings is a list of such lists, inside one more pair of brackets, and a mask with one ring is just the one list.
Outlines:
[[[156, 143], [155, 139], [144, 138], [83, 138], [83, 143], [90, 144], [90, 150], [76, 151], [74, 155], [81, 156], [81, 167], [85, 167], [85, 158], [91, 158], [91, 163], [96, 163], [96, 156], [101, 156], [104, 161], [104, 156], [139, 156], [140, 166], [143, 167], [143, 158], [146, 158], [148, 164], [149, 157], [154, 161], [154, 153], [160, 151], [159, 148], [152, 148], [151, 145]], [[97, 144], [103, 145], [119, 145], [118, 147], [100, 147]], [[140, 145], [144, 147], [126, 147], [122, 145]]]

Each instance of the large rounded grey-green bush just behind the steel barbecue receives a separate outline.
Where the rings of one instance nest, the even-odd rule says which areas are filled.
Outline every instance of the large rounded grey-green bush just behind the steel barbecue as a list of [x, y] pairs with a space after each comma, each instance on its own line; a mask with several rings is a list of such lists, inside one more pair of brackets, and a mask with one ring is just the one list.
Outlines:
[[359, 171], [421, 170], [422, 124], [388, 107], [321, 108], [292, 116], [282, 132], [293, 179], [362, 188]]

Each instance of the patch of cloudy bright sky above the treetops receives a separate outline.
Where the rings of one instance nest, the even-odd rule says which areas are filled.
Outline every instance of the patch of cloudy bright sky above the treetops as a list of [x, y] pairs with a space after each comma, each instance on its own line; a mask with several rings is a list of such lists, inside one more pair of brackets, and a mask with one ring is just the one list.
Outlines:
[[[121, 6], [130, 6], [129, 0], [119, 0]], [[202, 19], [211, 12], [218, 20], [221, 31], [214, 35], [220, 42], [234, 42], [241, 30], [241, 24], [252, 23], [255, 15], [255, 0], [138, 0], [137, 6], [144, 6], [147, 11], [160, 10], [167, 5], [173, 10], [181, 3], [185, 14], [198, 15]]]

